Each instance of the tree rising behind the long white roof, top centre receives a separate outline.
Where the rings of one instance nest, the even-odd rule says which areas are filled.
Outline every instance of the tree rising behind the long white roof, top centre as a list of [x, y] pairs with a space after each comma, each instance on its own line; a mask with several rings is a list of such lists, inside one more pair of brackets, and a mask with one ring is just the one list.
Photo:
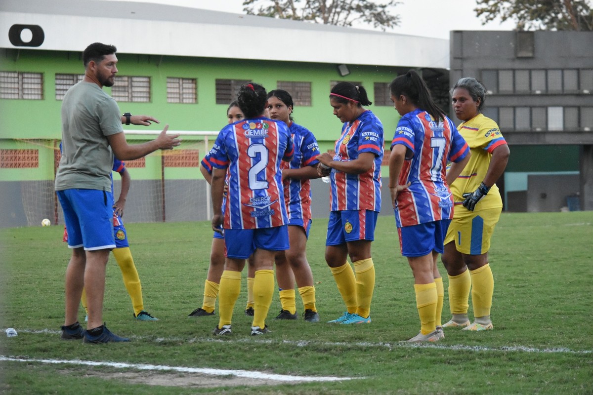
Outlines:
[[401, 3], [395, 0], [385, 4], [369, 0], [244, 0], [243, 11], [248, 15], [339, 26], [352, 26], [359, 21], [385, 31], [400, 24], [400, 16], [390, 14], [387, 9], [397, 4]]

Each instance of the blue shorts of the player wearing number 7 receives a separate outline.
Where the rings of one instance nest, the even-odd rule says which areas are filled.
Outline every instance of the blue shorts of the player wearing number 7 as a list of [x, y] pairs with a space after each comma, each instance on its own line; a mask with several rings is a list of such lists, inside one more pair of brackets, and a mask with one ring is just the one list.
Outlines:
[[436, 251], [443, 253], [444, 240], [451, 220], [432, 221], [397, 228], [403, 256], [425, 256]]

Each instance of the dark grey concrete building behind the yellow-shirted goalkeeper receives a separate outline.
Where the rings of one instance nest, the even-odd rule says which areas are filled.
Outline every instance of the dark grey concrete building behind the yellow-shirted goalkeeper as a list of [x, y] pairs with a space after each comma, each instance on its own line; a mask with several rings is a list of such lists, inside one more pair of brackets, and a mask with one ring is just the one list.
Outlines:
[[451, 85], [486, 85], [511, 148], [506, 210], [593, 210], [593, 32], [454, 31]]

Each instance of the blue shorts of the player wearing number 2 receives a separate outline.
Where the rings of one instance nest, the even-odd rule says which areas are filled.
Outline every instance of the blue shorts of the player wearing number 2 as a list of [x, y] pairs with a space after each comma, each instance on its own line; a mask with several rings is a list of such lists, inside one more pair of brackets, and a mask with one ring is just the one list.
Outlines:
[[290, 246], [288, 226], [225, 229], [224, 243], [229, 258], [247, 259], [258, 248], [267, 251], [284, 251]]

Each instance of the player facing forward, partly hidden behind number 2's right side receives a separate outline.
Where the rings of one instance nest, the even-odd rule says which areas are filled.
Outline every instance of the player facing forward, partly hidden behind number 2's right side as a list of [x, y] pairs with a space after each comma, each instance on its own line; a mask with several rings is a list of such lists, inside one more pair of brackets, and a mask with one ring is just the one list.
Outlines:
[[288, 125], [294, 142], [294, 155], [290, 162], [282, 162], [284, 199], [288, 211], [288, 251], [276, 253], [276, 280], [280, 289], [282, 310], [277, 320], [297, 319], [295, 303], [295, 280], [304, 304], [305, 321], [319, 322], [315, 307], [313, 273], [307, 261], [307, 239], [311, 229], [311, 178], [319, 178], [317, 159], [319, 146], [308, 129], [294, 123], [294, 104], [291, 95], [282, 89], [267, 94], [267, 110], [270, 118]]

